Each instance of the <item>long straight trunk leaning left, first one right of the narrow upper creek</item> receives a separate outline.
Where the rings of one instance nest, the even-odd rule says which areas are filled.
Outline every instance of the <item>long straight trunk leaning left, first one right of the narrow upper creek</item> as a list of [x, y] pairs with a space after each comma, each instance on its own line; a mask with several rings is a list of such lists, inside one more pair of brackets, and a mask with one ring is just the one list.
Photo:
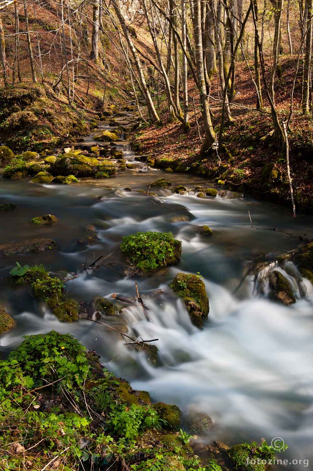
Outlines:
[[119, 19], [119, 22], [120, 22], [120, 25], [122, 27], [125, 39], [128, 43], [129, 49], [131, 50], [132, 56], [134, 58], [134, 61], [135, 61], [135, 64], [136, 64], [136, 69], [137, 69], [138, 76], [139, 76], [140, 86], [141, 86], [141, 89], [142, 89], [143, 94], [144, 94], [144, 98], [145, 98], [145, 102], [146, 102], [147, 107], [148, 107], [149, 115], [152, 119], [152, 122], [155, 122], [155, 123], [160, 122], [160, 118], [159, 118], [159, 116], [158, 116], [158, 114], [155, 110], [150, 92], [148, 90], [147, 84], [146, 84], [145, 79], [144, 79], [144, 71], [142, 70], [139, 58], [137, 56], [136, 48], [133, 44], [133, 41], [131, 40], [129, 31], [128, 31], [128, 27], [125, 23], [125, 19], [124, 19], [123, 15], [120, 11], [117, 0], [112, 0], [112, 5], [113, 5], [115, 13], [116, 13], [116, 15]]

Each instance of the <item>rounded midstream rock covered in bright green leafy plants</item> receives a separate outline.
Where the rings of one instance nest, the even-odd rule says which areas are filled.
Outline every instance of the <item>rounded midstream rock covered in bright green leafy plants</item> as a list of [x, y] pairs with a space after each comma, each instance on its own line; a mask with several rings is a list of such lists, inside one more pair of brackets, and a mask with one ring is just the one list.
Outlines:
[[123, 237], [121, 252], [144, 272], [176, 265], [180, 261], [182, 243], [171, 232], [137, 232]]

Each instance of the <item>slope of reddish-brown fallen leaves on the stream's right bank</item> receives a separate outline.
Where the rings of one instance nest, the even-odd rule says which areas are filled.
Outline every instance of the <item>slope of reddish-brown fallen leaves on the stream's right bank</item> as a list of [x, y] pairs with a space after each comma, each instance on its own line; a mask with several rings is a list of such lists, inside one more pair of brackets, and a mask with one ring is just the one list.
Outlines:
[[[270, 64], [268, 60], [268, 69]], [[290, 90], [296, 73], [297, 57], [281, 57], [281, 74], [275, 81], [275, 99], [280, 120], [286, 120], [290, 109]], [[290, 170], [297, 209], [313, 210], [313, 119], [300, 108], [301, 74], [297, 74], [293, 99], [294, 113], [290, 123]], [[214, 113], [213, 126], [218, 132], [221, 112], [221, 90], [217, 74], [212, 81], [210, 106]], [[258, 199], [269, 199], [290, 205], [286, 159], [276, 146], [270, 108], [263, 96], [263, 112], [256, 108], [256, 91], [251, 73], [244, 62], [236, 68], [236, 94], [231, 106], [234, 118], [223, 134], [225, 149], [212, 149], [200, 156], [201, 141], [193, 111], [193, 98], [201, 136], [199, 95], [193, 81], [189, 83], [189, 119], [191, 130], [185, 134], [180, 122], [163, 123], [137, 133], [134, 147], [156, 167], [175, 171], [195, 172], [230, 189], [249, 192]], [[254, 109], [250, 109], [254, 108]], [[165, 110], [166, 113], [167, 110]], [[144, 159], [145, 157], [143, 157]]]

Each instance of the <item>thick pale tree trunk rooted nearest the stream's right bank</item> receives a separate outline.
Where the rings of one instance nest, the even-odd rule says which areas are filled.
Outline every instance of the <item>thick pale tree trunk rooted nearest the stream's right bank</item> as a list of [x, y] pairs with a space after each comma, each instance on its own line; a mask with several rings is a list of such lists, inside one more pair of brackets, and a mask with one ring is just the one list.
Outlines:
[[215, 142], [215, 131], [211, 122], [207, 89], [204, 79], [202, 33], [201, 33], [201, 0], [193, 0], [194, 10], [194, 42], [196, 47], [198, 89], [202, 108], [202, 117], [205, 130], [205, 139], [202, 143], [201, 152], [208, 150]]

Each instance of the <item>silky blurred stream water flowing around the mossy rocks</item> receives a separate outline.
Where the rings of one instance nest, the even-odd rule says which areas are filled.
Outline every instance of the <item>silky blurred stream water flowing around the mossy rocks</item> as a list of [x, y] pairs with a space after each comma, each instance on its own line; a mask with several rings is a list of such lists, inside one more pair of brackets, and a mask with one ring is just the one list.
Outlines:
[[[92, 139], [88, 142], [93, 143]], [[132, 161], [128, 143], [118, 146]], [[285, 208], [249, 197], [218, 195], [202, 200], [194, 195], [194, 187], [208, 186], [208, 181], [138, 165], [141, 168], [136, 171], [71, 186], [0, 180], [0, 202], [17, 206], [0, 214], [0, 244], [51, 237], [58, 245], [53, 252], [0, 257], [0, 303], [16, 320], [16, 328], [0, 337], [0, 349], [6, 354], [25, 334], [51, 329], [72, 333], [86, 347], [96, 349], [104, 365], [128, 379], [134, 389], [148, 390], [153, 401], [177, 404], [183, 412], [193, 407], [209, 414], [216, 427], [208, 441], [221, 438], [233, 444], [265, 437], [271, 442], [281, 437], [289, 445], [282, 458], [313, 463], [312, 286], [301, 279], [296, 267], [285, 267], [297, 298], [286, 307], [270, 301], [266, 289], [260, 295], [252, 275], [244, 277], [251, 261], [297, 245], [297, 239], [289, 235], [251, 228], [248, 211], [255, 226], [279, 227], [296, 235], [310, 233], [312, 216], [294, 219]], [[173, 195], [161, 190], [158, 197], [137, 193], [163, 176], [193, 191]], [[59, 219], [55, 225], [34, 227], [29, 222], [47, 213]], [[77, 239], [86, 236], [87, 224], [96, 227], [99, 241], [81, 247]], [[199, 236], [198, 227], [203, 225], [211, 227], [214, 235]], [[183, 243], [181, 263], [128, 278], [119, 251], [121, 238], [147, 230], [172, 231]], [[91, 263], [100, 255], [114, 264], [83, 271], [86, 259]], [[79, 301], [90, 302], [95, 296], [111, 299], [112, 293], [135, 296], [136, 279], [149, 320], [135, 303], [124, 308], [120, 318], [108, 321], [126, 322], [129, 335], [138, 339], [159, 339], [154, 342], [159, 364], [153, 367], [143, 354], [129, 351], [120, 336], [103, 325], [87, 320], [60, 323], [33, 298], [29, 285], [13, 285], [5, 279], [16, 260], [43, 263], [60, 276], [62, 272], [64, 276], [80, 274], [66, 285], [69, 295]], [[201, 331], [171, 294], [169, 282], [178, 271], [200, 272], [204, 277], [210, 312]], [[163, 294], [153, 296], [158, 289]]]

